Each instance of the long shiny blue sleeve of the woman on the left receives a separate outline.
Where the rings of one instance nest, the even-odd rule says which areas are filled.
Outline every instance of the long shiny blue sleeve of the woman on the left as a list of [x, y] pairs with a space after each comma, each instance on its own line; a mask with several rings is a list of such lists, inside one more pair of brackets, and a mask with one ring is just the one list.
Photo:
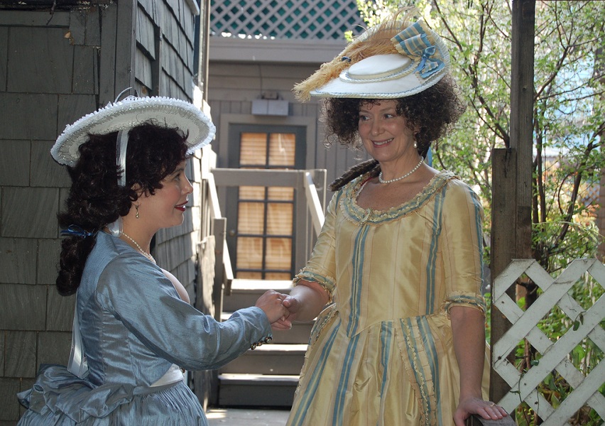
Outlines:
[[153, 354], [189, 370], [219, 368], [271, 334], [258, 307], [239, 310], [225, 322], [203, 314], [180, 300], [160, 269], [136, 253], [104, 268], [96, 297]]

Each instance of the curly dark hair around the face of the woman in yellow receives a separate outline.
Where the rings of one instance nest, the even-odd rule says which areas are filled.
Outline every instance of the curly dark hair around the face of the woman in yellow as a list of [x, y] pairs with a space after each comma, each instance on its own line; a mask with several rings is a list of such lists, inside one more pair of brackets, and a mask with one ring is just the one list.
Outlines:
[[[327, 98], [323, 102], [322, 121], [326, 124], [326, 143], [335, 139], [345, 146], [359, 146], [359, 107], [384, 99]], [[393, 99], [397, 114], [404, 116], [410, 129], [417, 129], [415, 140], [418, 153], [426, 156], [432, 142], [445, 136], [458, 121], [466, 105], [459, 97], [459, 89], [448, 74], [439, 82], [409, 97]]]

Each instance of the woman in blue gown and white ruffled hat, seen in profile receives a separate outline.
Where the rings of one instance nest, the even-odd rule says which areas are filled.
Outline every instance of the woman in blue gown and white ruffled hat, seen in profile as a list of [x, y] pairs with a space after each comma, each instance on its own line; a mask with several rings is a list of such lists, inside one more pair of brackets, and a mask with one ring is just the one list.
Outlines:
[[51, 154], [72, 178], [57, 278], [60, 294], [77, 293], [72, 353], [18, 395], [19, 425], [207, 425], [181, 368], [219, 368], [268, 341], [283, 295], [217, 322], [149, 253], [158, 229], [182, 224], [185, 158], [212, 136], [192, 104], [127, 97], [58, 138]]

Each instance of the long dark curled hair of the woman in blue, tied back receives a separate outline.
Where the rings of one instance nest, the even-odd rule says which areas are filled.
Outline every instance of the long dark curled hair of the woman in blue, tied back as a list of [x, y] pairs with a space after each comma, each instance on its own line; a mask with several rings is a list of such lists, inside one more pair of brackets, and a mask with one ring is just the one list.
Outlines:
[[[176, 129], [146, 123], [129, 131], [126, 150], [126, 186], [119, 187], [116, 166], [117, 133], [89, 135], [83, 143], [80, 158], [73, 168], [67, 168], [72, 187], [66, 201], [66, 210], [58, 214], [59, 224], [72, 224], [89, 232], [97, 232], [105, 225], [126, 216], [132, 202], [143, 192], [154, 194], [162, 187], [161, 181], [185, 159], [187, 136]], [[137, 192], [133, 185], [138, 185]], [[96, 239], [70, 236], [62, 241], [57, 289], [61, 295], [76, 292], [82, 271]]]

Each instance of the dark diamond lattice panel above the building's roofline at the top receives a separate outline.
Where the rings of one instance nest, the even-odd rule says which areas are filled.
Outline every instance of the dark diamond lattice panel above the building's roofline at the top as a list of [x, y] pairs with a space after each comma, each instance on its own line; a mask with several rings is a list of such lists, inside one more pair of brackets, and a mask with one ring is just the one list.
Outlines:
[[212, 35], [224, 37], [342, 40], [364, 25], [355, 0], [216, 0], [210, 10]]

